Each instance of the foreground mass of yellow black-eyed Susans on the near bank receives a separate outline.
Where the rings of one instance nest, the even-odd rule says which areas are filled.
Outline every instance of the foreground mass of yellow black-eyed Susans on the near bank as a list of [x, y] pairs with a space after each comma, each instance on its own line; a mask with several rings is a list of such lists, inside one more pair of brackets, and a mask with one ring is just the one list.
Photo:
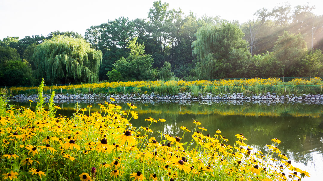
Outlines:
[[[136, 106], [128, 105], [125, 111], [106, 102], [99, 111], [76, 111], [71, 118], [50, 118], [47, 110], [6, 110], [0, 115], [3, 179], [267, 181], [310, 176], [292, 166], [276, 138], [264, 154], [248, 147], [243, 134], [230, 145], [221, 130], [205, 135], [207, 129], [193, 120], [194, 132], [181, 127], [182, 137], [173, 137], [161, 131], [162, 139], [156, 140], [149, 136], [151, 124], [166, 120], [149, 117], [147, 127], [131, 124], [138, 115]], [[184, 142], [184, 134], [192, 139]]]

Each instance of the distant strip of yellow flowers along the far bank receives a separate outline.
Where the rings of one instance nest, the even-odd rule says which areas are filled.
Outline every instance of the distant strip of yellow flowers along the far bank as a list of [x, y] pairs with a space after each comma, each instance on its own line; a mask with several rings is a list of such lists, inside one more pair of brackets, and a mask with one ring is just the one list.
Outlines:
[[[241, 87], [244, 89], [244, 86], [274, 86], [274, 85], [322, 85], [322, 80], [319, 77], [314, 77], [310, 81], [304, 79], [293, 79], [290, 82], [282, 82], [279, 78], [253, 78], [253, 79], [241, 79], [241, 80], [216, 80], [216, 81], [207, 81], [207, 80], [195, 80], [195, 81], [128, 81], [128, 82], [104, 82], [104, 83], [88, 83], [88, 84], [71, 84], [71, 85], [61, 85], [61, 86], [45, 86], [44, 90], [56, 90], [56, 89], [80, 89], [80, 88], [141, 88], [145, 87], [152, 89], [154, 87], [161, 86], [170, 86], [177, 85], [181, 86], [181, 90], [188, 90], [192, 86], [203, 86], [203, 87]], [[28, 91], [36, 90], [38, 87], [11, 87], [10, 90], [13, 91]]]

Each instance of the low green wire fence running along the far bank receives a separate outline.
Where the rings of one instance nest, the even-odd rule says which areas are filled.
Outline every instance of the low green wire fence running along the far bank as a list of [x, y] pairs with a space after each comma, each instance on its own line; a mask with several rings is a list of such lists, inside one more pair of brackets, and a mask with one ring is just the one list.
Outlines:
[[[13, 95], [17, 94], [37, 94], [37, 89], [11, 90]], [[98, 88], [71, 88], [71, 89], [45, 89], [44, 94], [178, 94], [179, 92], [192, 92], [197, 95], [199, 92], [220, 93], [245, 93], [245, 94], [263, 94], [281, 93], [281, 94], [322, 94], [322, 85], [250, 85], [250, 86], [160, 86], [160, 87], [98, 87]]]

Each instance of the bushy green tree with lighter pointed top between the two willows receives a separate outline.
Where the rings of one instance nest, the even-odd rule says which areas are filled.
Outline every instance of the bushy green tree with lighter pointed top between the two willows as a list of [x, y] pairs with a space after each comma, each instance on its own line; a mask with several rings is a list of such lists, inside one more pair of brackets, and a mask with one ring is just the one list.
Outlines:
[[129, 41], [127, 48], [130, 54], [127, 58], [121, 57], [113, 64], [122, 77], [129, 80], [146, 80], [150, 78], [153, 59], [151, 55], [145, 54], [144, 44], [136, 43], [137, 37]]

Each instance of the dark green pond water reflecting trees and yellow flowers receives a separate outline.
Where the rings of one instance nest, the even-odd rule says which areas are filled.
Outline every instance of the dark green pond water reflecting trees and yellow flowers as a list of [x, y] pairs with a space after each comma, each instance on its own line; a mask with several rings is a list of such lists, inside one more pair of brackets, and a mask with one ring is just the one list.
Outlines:
[[[126, 102], [114, 102], [129, 110]], [[98, 111], [97, 102], [79, 102], [81, 108], [91, 104], [92, 111]], [[29, 107], [26, 100], [11, 101], [18, 107]], [[71, 116], [75, 103], [58, 103], [62, 110], [57, 115]], [[36, 103], [31, 103], [34, 109]], [[294, 167], [305, 169], [311, 174], [310, 178], [303, 180], [321, 180], [323, 176], [323, 112], [322, 104], [308, 104], [305, 102], [289, 102], [279, 104], [264, 104], [253, 102], [141, 102], [136, 101], [135, 110], [139, 118], [130, 122], [135, 127], [147, 127], [148, 122], [144, 119], [163, 118], [163, 133], [172, 136], [182, 136], [181, 126], [194, 131], [193, 119], [202, 123], [201, 127], [207, 129], [203, 134], [214, 135], [217, 129], [222, 131], [221, 135], [229, 139], [228, 144], [233, 145], [235, 134], [243, 133], [248, 139], [248, 146], [266, 151], [266, 144], [272, 144], [273, 138], [281, 140], [278, 148], [282, 153], [292, 160]], [[161, 123], [153, 123], [150, 127], [154, 134], [152, 136], [160, 140]], [[192, 133], [192, 132], [191, 132]], [[186, 133], [184, 140], [190, 141], [191, 134]], [[184, 141], [185, 142], [185, 141]]]

